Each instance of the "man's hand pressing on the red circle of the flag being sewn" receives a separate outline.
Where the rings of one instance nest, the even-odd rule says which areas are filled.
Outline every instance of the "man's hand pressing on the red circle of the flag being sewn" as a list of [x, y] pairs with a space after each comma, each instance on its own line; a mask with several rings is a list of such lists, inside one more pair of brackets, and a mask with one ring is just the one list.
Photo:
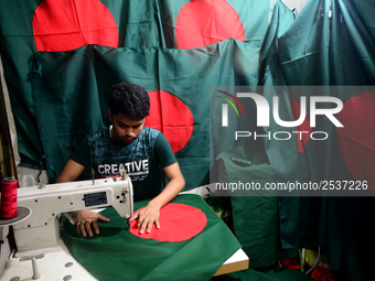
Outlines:
[[157, 204], [150, 202], [144, 208], [140, 209], [132, 217], [129, 218], [129, 223], [138, 218], [137, 226], [140, 227], [139, 234], [143, 234], [144, 229], [149, 234], [151, 233], [152, 225], [156, 224], [157, 228], [160, 228], [159, 216], [160, 207]]

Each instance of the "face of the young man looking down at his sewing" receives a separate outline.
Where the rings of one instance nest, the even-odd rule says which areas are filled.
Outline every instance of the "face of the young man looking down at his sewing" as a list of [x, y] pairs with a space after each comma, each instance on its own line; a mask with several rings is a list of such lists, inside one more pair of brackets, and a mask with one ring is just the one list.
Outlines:
[[132, 120], [124, 114], [113, 115], [108, 110], [109, 120], [113, 122], [111, 139], [117, 143], [129, 144], [141, 133], [144, 119]]

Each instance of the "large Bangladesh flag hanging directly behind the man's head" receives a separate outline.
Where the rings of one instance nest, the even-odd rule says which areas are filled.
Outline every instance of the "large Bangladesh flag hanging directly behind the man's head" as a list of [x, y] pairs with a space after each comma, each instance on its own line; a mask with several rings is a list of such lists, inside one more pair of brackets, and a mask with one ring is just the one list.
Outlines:
[[82, 138], [109, 123], [109, 88], [130, 82], [149, 93], [146, 126], [165, 134], [185, 188], [208, 183], [210, 87], [235, 85], [243, 72], [256, 75], [248, 64], [253, 55], [249, 45], [234, 40], [199, 50], [88, 45], [35, 54], [32, 95], [50, 179], [56, 179]]

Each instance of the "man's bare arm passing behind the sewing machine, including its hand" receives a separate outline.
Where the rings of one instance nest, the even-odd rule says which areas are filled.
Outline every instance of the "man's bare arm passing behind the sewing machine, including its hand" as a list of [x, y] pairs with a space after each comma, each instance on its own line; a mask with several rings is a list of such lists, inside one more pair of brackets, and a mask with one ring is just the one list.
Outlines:
[[[75, 162], [74, 160], [67, 161], [64, 166], [63, 172], [58, 175], [56, 183], [67, 183], [77, 180], [77, 177], [82, 174], [85, 170], [85, 166]], [[99, 227], [97, 225], [97, 220], [101, 221], [109, 221], [108, 218], [101, 216], [100, 214], [96, 214], [90, 212], [89, 209], [82, 209], [74, 212], [75, 219], [76, 219], [76, 228], [77, 231], [83, 236], [86, 237], [93, 236], [93, 229], [96, 234], [99, 234]]]

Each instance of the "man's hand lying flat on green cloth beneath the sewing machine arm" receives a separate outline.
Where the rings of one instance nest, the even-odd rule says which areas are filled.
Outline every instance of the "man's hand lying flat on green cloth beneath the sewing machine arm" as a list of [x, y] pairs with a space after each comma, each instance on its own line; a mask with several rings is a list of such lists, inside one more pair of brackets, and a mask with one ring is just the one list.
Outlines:
[[93, 237], [93, 229], [95, 234], [99, 234], [99, 227], [97, 220], [100, 221], [109, 221], [109, 218], [101, 216], [100, 214], [93, 213], [88, 209], [82, 209], [74, 212], [76, 217], [76, 227], [77, 231], [83, 236], [86, 237], [88, 234], [89, 237]]

